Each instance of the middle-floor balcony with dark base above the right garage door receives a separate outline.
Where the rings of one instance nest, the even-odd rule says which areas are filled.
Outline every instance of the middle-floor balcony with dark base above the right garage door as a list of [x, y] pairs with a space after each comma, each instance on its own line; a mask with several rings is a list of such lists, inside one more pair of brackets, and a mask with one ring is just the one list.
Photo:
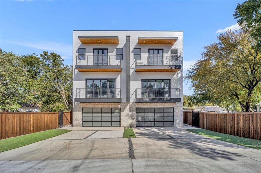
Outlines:
[[180, 102], [180, 89], [136, 89], [135, 102]]

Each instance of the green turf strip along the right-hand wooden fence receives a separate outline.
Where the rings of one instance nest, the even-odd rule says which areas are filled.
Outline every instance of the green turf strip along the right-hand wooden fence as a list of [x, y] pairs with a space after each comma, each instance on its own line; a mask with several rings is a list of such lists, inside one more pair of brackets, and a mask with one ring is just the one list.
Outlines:
[[202, 136], [207, 136], [209, 138], [222, 140], [225, 142], [230, 142], [233, 144], [238, 144], [242, 146], [247, 146], [249, 148], [254, 148], [257, 150], [261, 150], [261, 141], [249, 138], [243, 138], [239, 136], [233, 136], [225, 133], [218, 133], [215, 131], [205, 130], [205, 129], [187, 129], [187, 131], [197, 133]]

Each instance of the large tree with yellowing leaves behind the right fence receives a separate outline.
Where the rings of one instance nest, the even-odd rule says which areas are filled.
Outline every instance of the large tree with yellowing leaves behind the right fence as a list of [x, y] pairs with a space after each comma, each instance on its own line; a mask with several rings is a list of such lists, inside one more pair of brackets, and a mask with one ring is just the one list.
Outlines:
[[219, 106], [240, 104], [249, 112], [261, 99], [261, 57], [250, 32], [227, 31], [205, 47], [202, 58], [188, 70], [194, 94]]

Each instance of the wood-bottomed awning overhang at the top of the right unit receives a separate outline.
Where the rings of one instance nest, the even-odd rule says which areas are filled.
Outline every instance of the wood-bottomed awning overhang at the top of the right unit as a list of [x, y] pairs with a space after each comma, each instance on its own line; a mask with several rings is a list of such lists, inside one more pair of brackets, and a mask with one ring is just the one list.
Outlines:
[[138, 44], [174, 44], [178, 37], [138, 37]]

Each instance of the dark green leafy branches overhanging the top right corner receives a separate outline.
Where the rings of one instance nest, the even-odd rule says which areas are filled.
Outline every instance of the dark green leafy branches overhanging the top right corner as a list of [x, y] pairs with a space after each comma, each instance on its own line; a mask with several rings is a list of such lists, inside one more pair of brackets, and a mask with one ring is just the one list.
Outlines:
[[244, 31], [250, 31], [250, 36], [261, 44], [261, 0], [247, 0], [238, 4], [233, 14]]

